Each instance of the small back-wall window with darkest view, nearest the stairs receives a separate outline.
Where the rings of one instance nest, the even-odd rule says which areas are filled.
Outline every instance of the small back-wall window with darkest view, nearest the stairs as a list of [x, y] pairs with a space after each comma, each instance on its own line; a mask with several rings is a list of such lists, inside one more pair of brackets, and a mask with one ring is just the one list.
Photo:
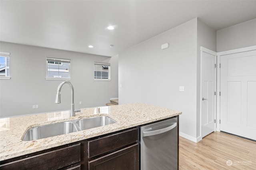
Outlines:
[[110, 80], [110, 63], [94, 62], [94, 80]]

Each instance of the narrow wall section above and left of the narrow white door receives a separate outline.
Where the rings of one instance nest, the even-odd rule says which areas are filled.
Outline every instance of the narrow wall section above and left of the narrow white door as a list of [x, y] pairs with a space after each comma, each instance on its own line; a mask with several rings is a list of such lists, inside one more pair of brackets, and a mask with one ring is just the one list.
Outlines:
[[212, 28], [206, 25], [204, 22], [200, 21], [198, 19], [197, 22], [197, 98], [196, 98], [196, 137], [201, 137], [201, 124], [200, 124], [200, 90], [201, 90], [201, 79], [200, 79], [200, 69], [201, 69], [201, 51], [200, 47], [205, 47], [207, 49], [210, 49], [212, 51], [216, 51], [216, 31]]

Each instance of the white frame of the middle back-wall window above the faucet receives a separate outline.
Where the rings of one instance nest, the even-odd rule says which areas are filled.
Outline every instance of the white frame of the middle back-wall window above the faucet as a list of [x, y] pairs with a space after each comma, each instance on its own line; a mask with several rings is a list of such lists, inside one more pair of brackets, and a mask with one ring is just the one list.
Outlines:
[[[55, 63], [48, 63], [48, 61], [54, 61], [54, 62], [61, 62], [61, 64], [55, 64]], [[49, 68], [48, 70], [48, 64], [50, 65], [63, 65], [63, 63], [69, 63], [69, 70], [68, 70], [68, 78], [63, 78], [63, 77], [58, 77], [58, 76], [54, 76], [54, 77], [48, 77], [48, 71], [51, 70], [51, 68]], [[71, 59], [61, 59], [61, 58], [56, 58], [56, 57], [46, 57], [46, 80], [71, 80]], [[53, 70], [52, 70], [53, 71]], [[64, 72], [64, 71], [60, 71], [58, 70], [58, 72]]]

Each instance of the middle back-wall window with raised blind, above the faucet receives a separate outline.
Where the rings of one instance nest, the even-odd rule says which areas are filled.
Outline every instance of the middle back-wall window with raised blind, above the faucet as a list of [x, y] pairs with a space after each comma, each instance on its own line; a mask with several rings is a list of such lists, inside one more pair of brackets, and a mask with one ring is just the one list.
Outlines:
[[70, 60], [46, 57], [46, 80], [70, 80]]

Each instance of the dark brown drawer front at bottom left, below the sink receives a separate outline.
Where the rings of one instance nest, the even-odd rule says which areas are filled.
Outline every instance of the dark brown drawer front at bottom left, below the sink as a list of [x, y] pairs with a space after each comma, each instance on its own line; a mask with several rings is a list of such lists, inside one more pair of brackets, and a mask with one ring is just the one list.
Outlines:
[[17, 160], [0, 166], [1, 170], [48, 170], [59, 169], [65, 166], [80, 162], [81, 159], [80, 144], [70, 147], [53, 150], [29, 158]]

